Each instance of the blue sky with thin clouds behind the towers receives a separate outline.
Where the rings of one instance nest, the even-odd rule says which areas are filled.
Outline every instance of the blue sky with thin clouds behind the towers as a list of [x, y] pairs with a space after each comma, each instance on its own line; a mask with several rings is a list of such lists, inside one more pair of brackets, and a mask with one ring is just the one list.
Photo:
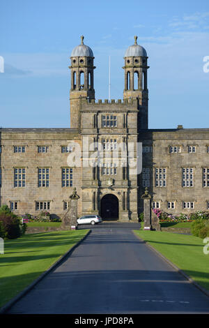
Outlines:
[[95, 56], [95, 96], [123, 98], [123, 56], [148, 53], [149, 128], [209, 128], [208, 0], [7, 0], [0, 5], [0, 126], [70, 126], [70, 54], [80, 43]]

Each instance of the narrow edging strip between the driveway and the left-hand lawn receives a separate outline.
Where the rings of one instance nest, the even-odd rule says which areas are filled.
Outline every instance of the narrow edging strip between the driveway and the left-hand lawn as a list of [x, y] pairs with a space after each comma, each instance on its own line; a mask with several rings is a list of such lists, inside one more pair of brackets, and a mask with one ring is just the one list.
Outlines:
[[17, 303], [17, 301], [19, 301], [22, 297], [24, 297], [24, 295], [26, 295], [35, 285], [37, 285], [37, 283], [39, 283], [42, 280], [42, 278], [47, 276], [47, 274], [49, 274], [50, 271], [52, 271], [53, 269], [55, 269], [56, 266], [61, 264], [61, 262], [63, 261], [63, 259], [65, 257], [71, 255], [71, 253], [73, 251], [75, 251], [75, 248], [77, 248], [77, 246], [79, 246], [79, 244], [81, 244], [82, 241], [84, 241], [84, 239], [86, 239], [86, 237], [88, 237], [88, 234], [90, 234], [90, 233], [91, 233], [91, 230], [89, 230], [85, 234], [85, 236], [82, 239], [80, 239], [77, 242], [77, 244], [72, 246], [64, 255], [61, 255], [61, 257], [58, 260], [56, 260], [56, 262], [54, 262], [54, 264], [52, 264], [51, 267], [49, 267], [49, 269], [47, 269], [42, 274], [40, 274], [40, 276], [38, 276], [38, 278], [36, 278], [30, 285], [28, 285], [26, 288], [24, 288], [24, 290], [22, 290], [22, 292], [17, 294], [15, 297], [13, 297], [13, 299], [10, 299], [10, 301], [8, 301], [5, 305], [3, 305], [0, 308], [0, 314], [6, 313], [6, 311], [8, 311], [9, 308], [11, 308], [15, 303]]

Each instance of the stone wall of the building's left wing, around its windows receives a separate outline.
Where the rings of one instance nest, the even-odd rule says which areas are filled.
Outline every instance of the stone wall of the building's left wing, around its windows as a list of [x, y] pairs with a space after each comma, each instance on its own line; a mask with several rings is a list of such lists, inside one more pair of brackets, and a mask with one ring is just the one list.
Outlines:
[[[62, 216], [63, 202], [69, 200], [74, 187], [81, 195], [78, 213], [82, 211], [82, 167], [73, 168], [72, 187], [62, 187], [61, 168], [68, 167], [68, 153], [61, 147], [81, 138], [73, 129], [2, 129], [1, 130], [1, 204], [18, 202], [17, 214], [37, 215], [37, 201], [50, 202], [50, 214]], [[24, 146], [24, 153], [14, 153], [14, 146]], [[38, 153], [38, 146], [48, 146], [47, 153]], [[25, 167], [26, 186], [14, 187], [14, 167]], [[38, 187], [38, 167], [49, 167], [49, 187]]]

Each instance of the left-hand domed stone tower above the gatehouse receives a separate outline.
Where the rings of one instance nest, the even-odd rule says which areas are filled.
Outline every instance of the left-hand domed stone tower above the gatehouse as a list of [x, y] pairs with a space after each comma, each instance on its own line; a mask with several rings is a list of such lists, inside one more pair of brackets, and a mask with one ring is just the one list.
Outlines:
[[84, 36], [81, 44], [72, 50], [71, 54], [71, 87], [70, 87], [70, 128], [80, 128], [80, 106], [82, 98], [95, 99], [93, 87], [93, 51], [84, 45]]

